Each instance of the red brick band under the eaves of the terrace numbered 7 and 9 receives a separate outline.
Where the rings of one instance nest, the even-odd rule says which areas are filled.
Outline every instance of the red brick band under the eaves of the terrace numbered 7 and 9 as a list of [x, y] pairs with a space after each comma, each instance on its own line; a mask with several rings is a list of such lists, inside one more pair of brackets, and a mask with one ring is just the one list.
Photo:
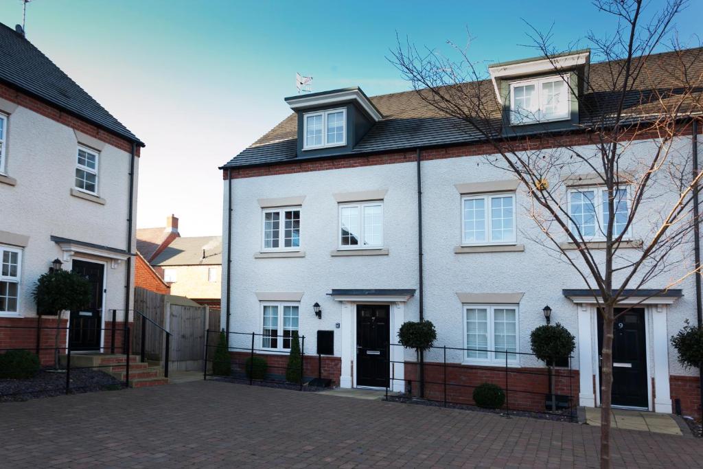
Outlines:
[[[681, 134], [690, 134], [690, 129], [683, 129]], [[656, 132], [641, 131], [636, 136], [634, 134], [623, 136], [623, 139], [656, 139], [659, 135]], [[522, 150], [538, 150], [543, 148], [557, 148], [562, 146], [577, 146], [596, 143], [594, 136], [590, 132], [579, 132], [561, 136], [544, 137], [523, 137], [509, 143], [508, 152]], [[462, 146], [449, 146], [443, 148], [427, 148], [422, 152], [422, 160], [442, 160], [445, 158], [460, 158], [463, 156], [491, 155], [496, 153], [496, 147], [492, 143], [470, 143]], [[415, 150], [396, 151], [382, 153], [378, 155], [366, 156], [340, 156], [326, 160], [287, 162], [279, 165], [269, 165], [262, 167], [250, 167], [232, 169], [232, 179], [240, 179], [257, 176], [272, 176], [275, 174], [291, 174], [299, 172], [325, 171], [326, 169], [342, 169], [353, 167], [365, 167], [375, 165], [391, 165], [394, 163], [405, 163], [416, 161]], [[222, 172], [223, 179], [227, 179], [228, 170]]]

